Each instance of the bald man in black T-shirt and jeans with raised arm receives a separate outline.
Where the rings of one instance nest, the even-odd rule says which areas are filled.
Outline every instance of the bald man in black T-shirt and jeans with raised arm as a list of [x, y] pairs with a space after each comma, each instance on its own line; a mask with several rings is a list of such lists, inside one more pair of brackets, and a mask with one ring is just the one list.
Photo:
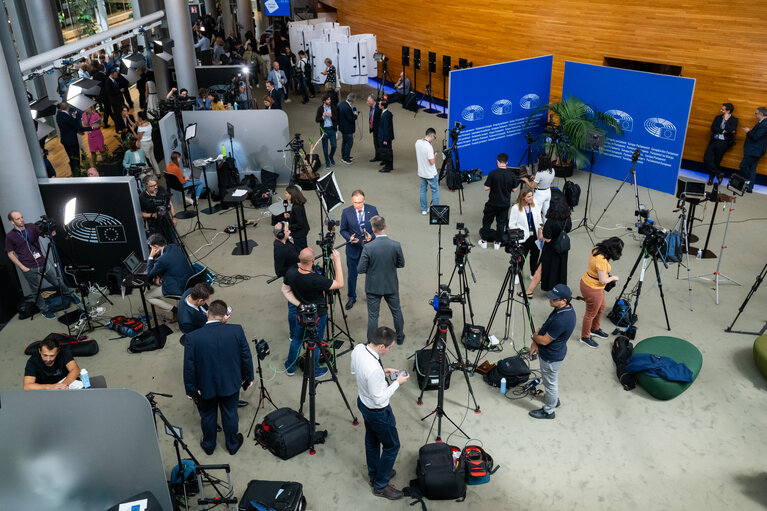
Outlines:
[[[298, 254], [298, 264], [288, 269], [285, 273], [285, 282], [282, 284], [282, 294], [296, 307], [302, 305], [314, 305], [317, 308], [317, 340], [322, 341], [325, 334], [325, 324], [328, 320], [328, 307], [325, 299], [325, 293], [335, 289], [341, 289], [344, 286], [343, 268], [341, 268], [341, 254], [333, 250], [331, 254], [333, 261], [333, 270], [335, 278], [330, 280], [315, 273], [314, 271], [314, 250], [311, 247], [303, 249]], [[288, 359], [285, 361], [285, 373], [293, 376], [296, 371], [296, 362], [304, 342], [306, 327], [302, 324], [296, 325], [293, 336], [290, 339], [290, 350]], [[320, 369], [320, 358], [315, 357], [314, 375], [323, 376], [328, 372], [326, 367]]]

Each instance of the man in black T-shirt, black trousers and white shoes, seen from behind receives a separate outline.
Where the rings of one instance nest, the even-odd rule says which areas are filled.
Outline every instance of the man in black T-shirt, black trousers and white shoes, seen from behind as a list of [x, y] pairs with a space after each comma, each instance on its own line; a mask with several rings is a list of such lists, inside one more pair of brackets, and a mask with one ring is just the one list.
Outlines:
[[[501, 238], [509, 220], [511, 194], [517, 191], [519, 178], [513, 170], [506, 168], [509, 157], [501, 153], [496, 158], [498, 168], [487, 175], [485, 191], [489, 191], [485, 209], [482, 212], [482, 228], [479, 230], [479, 246], [487, 248], [488, 241], [494, 241], [496, 250], [501, 248]], [[496, 229], [493, 231], [493, 220]]]

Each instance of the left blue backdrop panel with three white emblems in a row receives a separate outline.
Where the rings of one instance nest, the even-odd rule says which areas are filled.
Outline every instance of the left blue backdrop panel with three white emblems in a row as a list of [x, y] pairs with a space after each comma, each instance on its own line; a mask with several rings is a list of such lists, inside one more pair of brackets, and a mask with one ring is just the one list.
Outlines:
[[525, 133], [535, 136], [542, 130], [540, 123], [526, 129], [525, 120], [532, 109], [549, 102], [551, 64], [548, 55], [450, 72], [448, 127], [466, 125], [458, 139], [462, 170], [479, 168], [487, 174], [499, 153], [509, 155], [510, 166], [519, 163], [527, 149]]

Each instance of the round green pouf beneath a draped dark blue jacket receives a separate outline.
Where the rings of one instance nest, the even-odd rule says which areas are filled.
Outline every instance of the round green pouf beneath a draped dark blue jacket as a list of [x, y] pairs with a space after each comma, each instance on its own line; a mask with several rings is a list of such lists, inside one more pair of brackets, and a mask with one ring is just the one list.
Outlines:
[[[679, 339], [678, 337], [657, 336], [648, 337], [634, 346], [634, 353], [649, 353], [668, 357], [674, 362], [685, 364], [692, 372], [692, 381], [698, 377], [700, 368], [703, 367], [703, 355], [694, 345]], [[637, 383], [642, 386], [651, 396], [668, 400], [673, 399], [692, 385], [668, 381], [663, 378], [653, 378], [646, 374], [637, 373]]]

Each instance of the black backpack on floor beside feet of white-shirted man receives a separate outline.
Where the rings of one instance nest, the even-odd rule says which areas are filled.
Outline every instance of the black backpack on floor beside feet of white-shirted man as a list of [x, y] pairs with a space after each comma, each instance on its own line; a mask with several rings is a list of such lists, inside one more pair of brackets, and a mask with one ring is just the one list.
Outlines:
[[[458, 454], [458, 458], [453, 453]], [[426, 444], [418, 450], [415, 473], [410, 481], [421, 495], [431, 500], [466, 498], [466, 462], [461, 450], [444, 442]]]

